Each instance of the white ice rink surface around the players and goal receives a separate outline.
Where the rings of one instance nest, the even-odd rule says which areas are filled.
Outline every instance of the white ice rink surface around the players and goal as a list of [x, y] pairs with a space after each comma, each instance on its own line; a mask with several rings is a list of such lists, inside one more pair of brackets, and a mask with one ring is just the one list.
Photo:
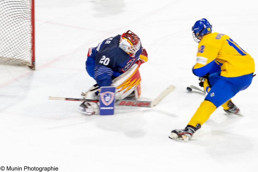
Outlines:
[[[202, 18], [229, 35], [258, 64], [256, 1], [37, 0], [36, 71], [0, 65], [0, 166], [55, 166], [58, 171], [257, 171], [258, 77], [233, 102], [244, 117], [219, 107], [188, 142], [168, 138], [184, 128], [204, 95], [191, 72]], [[140, 67], [142, 100], [176, 89], [155, 108], [117, 107], [112, 116], [77, 113], [95, 84], [85, 71], [89, 47], [136, 33], [148, 52]], [[256, 68], [257, 69], [257, 68]]]

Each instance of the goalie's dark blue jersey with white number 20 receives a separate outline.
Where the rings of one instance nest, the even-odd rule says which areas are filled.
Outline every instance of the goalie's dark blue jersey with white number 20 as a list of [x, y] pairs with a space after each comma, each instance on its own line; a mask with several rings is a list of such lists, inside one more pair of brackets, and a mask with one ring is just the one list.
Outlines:
[[107, 38], [95, 48], [89, 48], [86, 70], [99, 85], [110, 86], [112, 79], [127, 71], [139, 59], [142, 46], [134, 57], [118, 47], [121, 35]]

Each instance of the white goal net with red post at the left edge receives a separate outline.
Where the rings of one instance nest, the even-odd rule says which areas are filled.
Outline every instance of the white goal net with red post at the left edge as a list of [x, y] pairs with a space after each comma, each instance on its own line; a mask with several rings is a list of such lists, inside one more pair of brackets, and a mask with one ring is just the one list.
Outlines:
[[0, 64], [35, 69], [34, 0], [0, 0]]

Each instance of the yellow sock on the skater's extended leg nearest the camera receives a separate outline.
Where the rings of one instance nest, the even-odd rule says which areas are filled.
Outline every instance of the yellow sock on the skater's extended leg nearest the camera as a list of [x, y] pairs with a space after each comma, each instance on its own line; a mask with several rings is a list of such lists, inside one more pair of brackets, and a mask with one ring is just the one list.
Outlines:
[[207, 100], [203, 101], [192, 119], [189, 121], [188, 125], [192, 125], [194, 127], [196, 124], [202, 125], [216, 109], [216, 106], [212, 102]]

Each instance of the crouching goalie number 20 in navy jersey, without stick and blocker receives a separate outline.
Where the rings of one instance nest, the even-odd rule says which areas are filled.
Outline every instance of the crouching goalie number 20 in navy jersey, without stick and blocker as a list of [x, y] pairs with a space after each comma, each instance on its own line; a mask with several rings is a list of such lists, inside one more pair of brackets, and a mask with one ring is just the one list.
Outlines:
[[97, 47], [89, 48], [86, 70], [97, 84], [83, 92], [82, 96], [96, 101], [83, 102], [79, 112], [87, 115], [98, 114], [96, 102], [102, 86], [116, 86], [116, 99], [128, 96], [138, 98], [141, 92], [138, 68], [146, 61], [148, 54], [142, 47], [140, 38], [130, 30], [103, 40]]

